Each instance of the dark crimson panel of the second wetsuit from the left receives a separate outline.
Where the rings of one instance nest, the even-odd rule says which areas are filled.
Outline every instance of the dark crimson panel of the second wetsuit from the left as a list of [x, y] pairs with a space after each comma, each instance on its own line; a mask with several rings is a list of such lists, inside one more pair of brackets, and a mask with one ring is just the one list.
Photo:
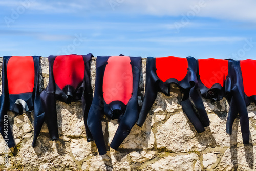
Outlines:
[[67, 85], [76, 89], [84, 77], [83, 57], [80, 55], [57, 56], [53, 63], [53, 76], [61, 90]]

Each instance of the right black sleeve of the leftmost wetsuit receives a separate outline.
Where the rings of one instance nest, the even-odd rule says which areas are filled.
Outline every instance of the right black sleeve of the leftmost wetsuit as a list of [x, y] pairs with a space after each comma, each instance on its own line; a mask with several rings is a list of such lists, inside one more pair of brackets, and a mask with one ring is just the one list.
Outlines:
[[37, 137], [42, 128], [42, 124], [45, 121], [45, 112], [42, 107], [40, 93], [41, 88], [44, 87], [44, 80], [42, 77], [41, 72], [41, 65], [40, 65], [40, 57], [33, 56], [34, 58], [34, 65], [35, 65], [35, 99], [34, 99], [34, 139], [32, 142], [32, 146], [35, 147]]

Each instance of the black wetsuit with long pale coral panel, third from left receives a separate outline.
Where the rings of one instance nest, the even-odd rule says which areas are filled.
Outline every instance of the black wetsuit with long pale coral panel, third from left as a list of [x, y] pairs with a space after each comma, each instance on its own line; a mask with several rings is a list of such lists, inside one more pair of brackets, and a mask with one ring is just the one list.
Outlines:
[[141, 57], [97, 57], [95, 92], [87, 124], [100, 155], [106, 153], [101, 125], [103, 114], [119, 121], [110, 144], [113, 149], [120, 146], [138, 120], [140, 67]]

